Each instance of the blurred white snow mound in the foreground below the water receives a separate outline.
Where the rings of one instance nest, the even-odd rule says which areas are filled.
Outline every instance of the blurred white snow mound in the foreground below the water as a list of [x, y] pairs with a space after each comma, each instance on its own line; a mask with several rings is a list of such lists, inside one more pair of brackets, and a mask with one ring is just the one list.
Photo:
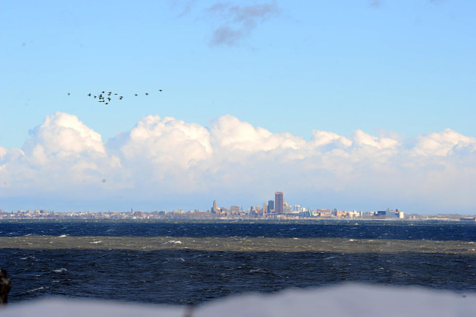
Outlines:
[[157, 316], [476, 316], [476, 293], [457, 294], [421, 288], [345, 284], [269, 295], [224, 298], [190, 309], [96, 300], [49, 298], [9, 304], [2, 317], [157, 317]]

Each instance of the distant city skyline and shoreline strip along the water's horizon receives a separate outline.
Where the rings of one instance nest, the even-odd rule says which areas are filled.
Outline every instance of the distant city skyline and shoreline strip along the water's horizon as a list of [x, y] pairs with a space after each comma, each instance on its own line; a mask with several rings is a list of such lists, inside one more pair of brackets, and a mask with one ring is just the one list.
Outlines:
[[51, 210], [18, 210], [16, 212], [6, 212], [0, 209], [1, 219], [269, 219], [269, 220], [293, 220], [293, 219], [437, 219], [437, 220], [459, 220], [476, 222], [475, 215], [460, 214], [405, 214], [404, 211], [396, 208], [377, 211], [358, 210], [338, 210], [336, 208], [310, 208], [301, 205], [289, 205], [284, 200], [281, 191], [274, 194], [274, 200], [269, 200], [263, 205], [250, 206], [244, 209], [234, 205], [218, 207], [216, 200], [208, 210], [174, 209], [172, 211], [156, 210], [152, 212], [133, 210], [124, 212], [54, 212]]

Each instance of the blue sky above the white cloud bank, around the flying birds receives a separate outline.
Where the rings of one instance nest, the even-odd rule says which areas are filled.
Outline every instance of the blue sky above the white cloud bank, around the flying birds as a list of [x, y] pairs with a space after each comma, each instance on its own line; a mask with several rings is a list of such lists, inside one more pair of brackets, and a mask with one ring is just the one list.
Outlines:
[[[1, 147], [24, 149], [56, 112], [104, 143], [150, 114], [209, 130], [230, 114], [306, 141], [313, 130], [402, 144], [446, 128], [476, 136], [474, 1], [118, 2], [2, 4]], [[102, 90], [124, 99], [86, 95]]]

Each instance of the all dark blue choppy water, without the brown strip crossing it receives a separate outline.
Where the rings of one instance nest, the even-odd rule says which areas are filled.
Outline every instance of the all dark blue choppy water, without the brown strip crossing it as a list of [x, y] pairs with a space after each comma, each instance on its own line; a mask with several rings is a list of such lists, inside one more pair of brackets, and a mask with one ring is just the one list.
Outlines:
[[[356, 224], [357, 223], [357, 224]], [[7, 222], [1, 236], [339, 237], [475, 241], [457, 222]], [[44, 296], [198, 304], [227, 295], [346, 281], [476, 291], [476, 256], [418, 252], [0, 249], [11, 302]]]

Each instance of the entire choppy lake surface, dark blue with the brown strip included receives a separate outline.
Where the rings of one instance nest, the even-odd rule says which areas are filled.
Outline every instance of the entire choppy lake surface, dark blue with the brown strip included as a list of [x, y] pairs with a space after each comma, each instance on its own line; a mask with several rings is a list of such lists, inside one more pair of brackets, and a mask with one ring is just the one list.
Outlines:
[[7, 222], [10, 301], [196, 304], [343, 281], [476, 291], [476, 225], [457, 222]]

